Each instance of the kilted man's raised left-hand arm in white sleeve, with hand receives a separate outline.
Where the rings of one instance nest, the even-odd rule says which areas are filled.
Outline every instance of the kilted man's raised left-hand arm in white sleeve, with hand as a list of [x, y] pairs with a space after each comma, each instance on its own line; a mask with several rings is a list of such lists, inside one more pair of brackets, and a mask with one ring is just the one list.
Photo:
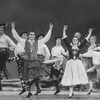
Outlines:
[[18, 42], [22, 42], [23, 39], [18, 35], [16, 29], [15, 29], [15, 22], [11, 23], [11, 28], [12, 28], [12, 35], [13, 37], [18, 41]]

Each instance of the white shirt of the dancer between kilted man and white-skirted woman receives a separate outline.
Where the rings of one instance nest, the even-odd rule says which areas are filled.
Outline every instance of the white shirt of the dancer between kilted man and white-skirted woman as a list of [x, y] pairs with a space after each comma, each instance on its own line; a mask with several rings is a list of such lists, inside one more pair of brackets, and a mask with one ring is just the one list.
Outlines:
[[60, 46], [54, 46], [51, 50], [52, 57], [59, 57], [62, 56], [62, 54], [65, 54], [64, 48]]

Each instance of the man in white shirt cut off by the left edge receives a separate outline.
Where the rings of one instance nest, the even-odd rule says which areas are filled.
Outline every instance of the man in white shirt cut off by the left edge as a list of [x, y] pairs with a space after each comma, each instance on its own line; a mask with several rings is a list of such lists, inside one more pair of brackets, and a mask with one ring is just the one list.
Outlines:
[[0, 24], [0, 91], [2, 91], [1, 79], [2, 73], [7, 76], [6, 62], [9, 57], [9, 49], [13, 51], [16, 48], [15, 43], [5, 34], [6, 24]]

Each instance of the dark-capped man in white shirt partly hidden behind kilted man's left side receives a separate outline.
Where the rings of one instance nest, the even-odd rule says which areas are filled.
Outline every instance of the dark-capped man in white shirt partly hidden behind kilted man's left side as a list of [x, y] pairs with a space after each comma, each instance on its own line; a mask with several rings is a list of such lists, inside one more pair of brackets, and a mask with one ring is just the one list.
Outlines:
[[[20, 37], [23, 38], [23, 39], [25, 39], [25, 40], [27, 40], [28, 39], [28, 32], [27, 31], [21, 32], [20, 33]], [[22, 74], [23, 74], [23, 68], [24, 68], [25, 50], [24, 50], [23, 45], [20, 42], [17, 43], [17, 46], [16, 46], [16, 49], [15, 49], [14, 53], [15, 53], [15, 57], [10, 57], [9, 58], [9, 62], [11, 62], [13, 60], [16, 60], [18, 76], [19, 76], [20, 81], [21, 81], [22, 90], [24, 91], [25, 88], [23, 86], [24, 85], [24, 81], [22, 79]], [[19, 95], [21, 93], [19, 93]]]

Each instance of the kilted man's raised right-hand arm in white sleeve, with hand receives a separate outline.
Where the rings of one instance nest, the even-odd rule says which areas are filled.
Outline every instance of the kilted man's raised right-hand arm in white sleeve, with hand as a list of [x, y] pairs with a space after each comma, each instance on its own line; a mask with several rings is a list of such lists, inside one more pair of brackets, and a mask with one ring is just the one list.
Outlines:
[[46, 43], [49, 41], [49, 39], [51, 38], [51, 34], [52, 34], [52, 29], [53, 29], [53, 24], [50, 23], [49, 24], [49, 31], [48, 33], [46, 34], [46, 36], [41, 39], [41, 40], [38, 40], [38, 46], [40, 47], [42, 44]]

